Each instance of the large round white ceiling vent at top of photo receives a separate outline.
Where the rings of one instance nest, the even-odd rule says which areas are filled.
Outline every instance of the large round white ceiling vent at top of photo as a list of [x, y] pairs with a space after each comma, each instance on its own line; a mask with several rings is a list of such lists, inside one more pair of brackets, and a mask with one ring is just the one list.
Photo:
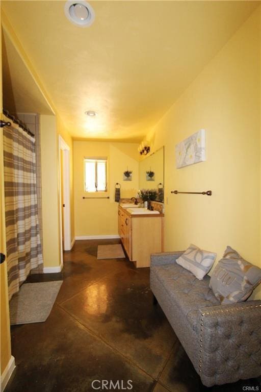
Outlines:
[[70, 22], [80, 27], [91, 26], [94, 21], [93, 8], [84, 0], [67, 1], [64, 6], [64, 12]]

